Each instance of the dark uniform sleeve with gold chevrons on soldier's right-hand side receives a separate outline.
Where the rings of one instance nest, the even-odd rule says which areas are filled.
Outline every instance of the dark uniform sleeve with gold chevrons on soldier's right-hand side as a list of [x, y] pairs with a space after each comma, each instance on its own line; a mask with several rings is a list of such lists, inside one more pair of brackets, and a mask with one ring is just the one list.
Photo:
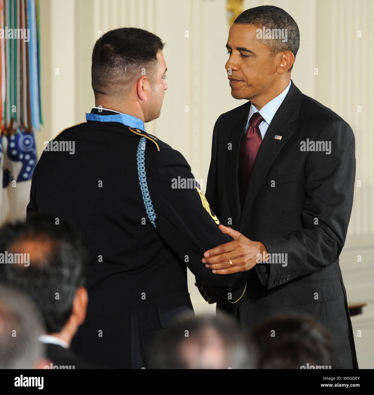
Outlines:
[[199, 185], [194, 185], [185, 158], [176, 150], [162, 149], [146, 177], [161, 238], [200, 281], [215, 287], [223, 301], [236, 302], [244, 293], [247, 276], [215, 275], [201, 262], [206, 250], [232, 239], [218, 228], [220, 222]]

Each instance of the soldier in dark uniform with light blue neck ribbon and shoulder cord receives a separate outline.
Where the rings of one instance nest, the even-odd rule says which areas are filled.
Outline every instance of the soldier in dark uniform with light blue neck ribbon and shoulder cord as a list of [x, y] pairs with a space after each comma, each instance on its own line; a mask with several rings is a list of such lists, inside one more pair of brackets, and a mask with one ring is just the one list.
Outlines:
[[97, 40], [96, 108], [46, 146], [27, 208], [69, 218], [84, 235], [89, 302], [72, 349], [112, 368], [148, 367], [153, 335], [193, 312], [187, 267], [228, 305], [246, 283], [246, 273], [217, 276], [202, 264], [205, 250], [230, 237], [183, 156], [145, 131], [167, 89], [162, 49], [159, 37], [137, 28]]

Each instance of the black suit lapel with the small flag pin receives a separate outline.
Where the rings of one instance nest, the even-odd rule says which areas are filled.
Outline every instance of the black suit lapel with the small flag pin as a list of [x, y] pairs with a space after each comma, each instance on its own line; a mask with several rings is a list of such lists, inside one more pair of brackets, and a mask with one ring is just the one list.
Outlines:
[[[254, 199], [256, 198], [267, 173], [269, 173], [275, 158], [294, 133], [294, 130], [292, 130], [289, 124], [299, 117], [301, 98], [301, 92], [292, 82], [286, 98], [284, 98], [267, 128], [264, 141], [262, 141], [260, 149], [258, 150], [251, 178], [249, 179], [247, 195], [245, 197], [238, 229], [241, 228], [243, 221], [247, 217]], [[282, 136], [282, 139], [275, 139], [275, 135]]]

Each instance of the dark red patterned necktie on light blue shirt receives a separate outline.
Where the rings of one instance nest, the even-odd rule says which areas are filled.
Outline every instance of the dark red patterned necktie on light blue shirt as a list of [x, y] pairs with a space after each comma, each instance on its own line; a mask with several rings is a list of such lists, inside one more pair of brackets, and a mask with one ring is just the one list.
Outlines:
[[262, 143], [261, 132], [258, 126], [263, 120], [259, 112], [254, 113], [249, 120], [247, 132], [245, 132], [241, 139], [239, 152], [239, 193], [241, 207], [244, 205], [254, 160]]

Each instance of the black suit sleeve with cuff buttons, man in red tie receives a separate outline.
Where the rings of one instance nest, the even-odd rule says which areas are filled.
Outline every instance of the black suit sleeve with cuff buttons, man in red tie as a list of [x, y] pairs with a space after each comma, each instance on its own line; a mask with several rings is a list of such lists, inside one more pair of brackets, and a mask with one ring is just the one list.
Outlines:
[[287, 265], [269, 264], [267, 289], [337, 261], [344, 246], [355, 184], [355, 139], [350, 126], [337, 120], [317, 141], [331, 141], [331, 153], [309, 152], [303, 229], [284, 237], [263, 238], [269, 254], [287, 254]]

